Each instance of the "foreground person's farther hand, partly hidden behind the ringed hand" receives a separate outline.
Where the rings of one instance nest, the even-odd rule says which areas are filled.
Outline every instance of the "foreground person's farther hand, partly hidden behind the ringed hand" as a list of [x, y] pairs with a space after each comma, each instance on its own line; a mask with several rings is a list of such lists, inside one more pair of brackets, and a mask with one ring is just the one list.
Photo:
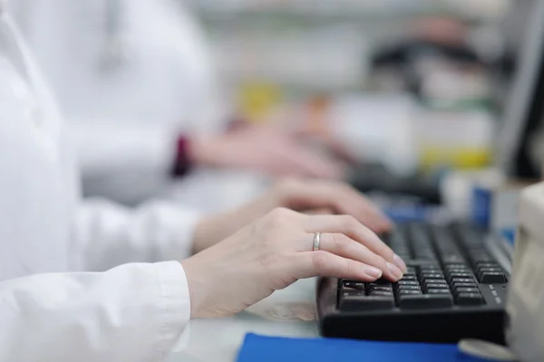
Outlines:
[[349, 214], [374, 233], [384, 233], [391, 228], [385, 215], [353, 187], [336, 181], [291, 178], [278, 182], [248, 205], [203, 218], [195, 228], [194, 251], [200, 252], [226, 239], [277, 207], [301, 212], [318, 210], [328, 214]]

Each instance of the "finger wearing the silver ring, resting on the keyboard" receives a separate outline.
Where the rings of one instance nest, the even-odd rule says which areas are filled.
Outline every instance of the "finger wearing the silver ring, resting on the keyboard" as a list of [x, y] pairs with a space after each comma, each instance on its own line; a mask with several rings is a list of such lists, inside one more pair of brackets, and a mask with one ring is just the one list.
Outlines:
[[[308, 237], [308, 240], [300, 245], [306, 251], [308, 250], [308, 242], [315, 237], [314, 234], [308, 236], [311, 236], [311, 239]], [[403, 271], [399, 267], [392, 262], [387, 262], [382, 256], [370, 251], [362, 243], [355, 242], [343, 233], [322, 233], [320, 239], [319, 250], [374, 266], [374, 268], [383, 271], [383, 276], [390, 281], [399, 281], [403, 278]]]

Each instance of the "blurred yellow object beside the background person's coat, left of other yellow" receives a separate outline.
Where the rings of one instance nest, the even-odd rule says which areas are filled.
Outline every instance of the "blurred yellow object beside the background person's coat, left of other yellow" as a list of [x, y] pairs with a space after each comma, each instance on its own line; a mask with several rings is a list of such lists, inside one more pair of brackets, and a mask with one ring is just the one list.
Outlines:
[[242, 114], [251, 122], [261, 122], [282, 101], [279, 86], [266, 82], [248, 82], [239, 90], [239, 106]]

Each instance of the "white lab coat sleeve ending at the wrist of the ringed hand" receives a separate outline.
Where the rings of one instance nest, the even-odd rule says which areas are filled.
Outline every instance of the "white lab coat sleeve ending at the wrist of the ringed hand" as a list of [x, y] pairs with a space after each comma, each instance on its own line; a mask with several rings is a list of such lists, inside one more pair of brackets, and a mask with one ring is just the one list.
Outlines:
[[4, 281], [0, 361], [163, 361], [189, 314], [179, 262]]

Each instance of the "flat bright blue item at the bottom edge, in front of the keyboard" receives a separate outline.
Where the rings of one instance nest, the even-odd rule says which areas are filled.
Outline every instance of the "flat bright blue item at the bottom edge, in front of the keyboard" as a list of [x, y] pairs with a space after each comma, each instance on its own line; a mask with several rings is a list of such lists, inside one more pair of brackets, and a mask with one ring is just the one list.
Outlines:
[[279, 338], [248, 334], [238, 362], [482, 362], [456, 345], [373, 342], [335, 338]]

